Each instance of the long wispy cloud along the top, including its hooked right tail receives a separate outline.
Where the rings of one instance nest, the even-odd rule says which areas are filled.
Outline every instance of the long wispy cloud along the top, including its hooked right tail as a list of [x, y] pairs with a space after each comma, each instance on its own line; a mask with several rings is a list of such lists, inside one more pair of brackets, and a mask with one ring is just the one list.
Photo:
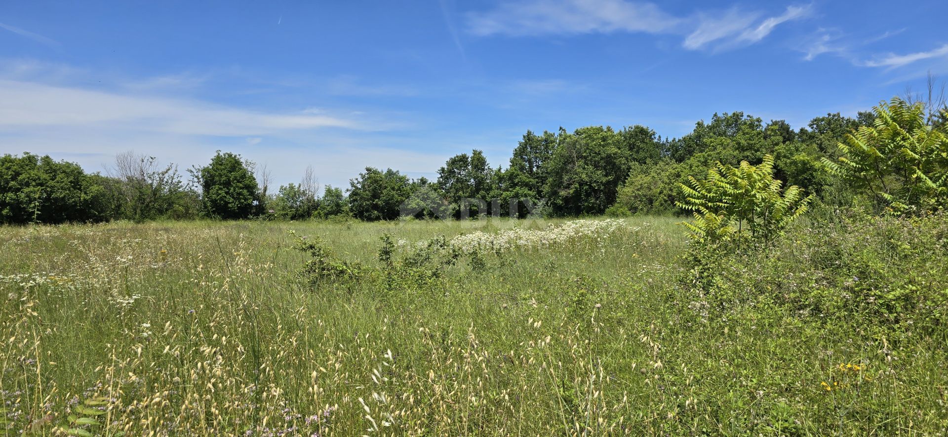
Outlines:
[[629, 0], [529, 0], [469, 13], [467, 27], [479, 36], [681, 34], [686, 49], [721, 50], [755, 44], [770, 35], [776, 26], [807, 17], [811, 9], [811, 5], [790, 6], [780, 15], [762, 19], [761, 12], [738, 7], [679, 17], [652, 3]]

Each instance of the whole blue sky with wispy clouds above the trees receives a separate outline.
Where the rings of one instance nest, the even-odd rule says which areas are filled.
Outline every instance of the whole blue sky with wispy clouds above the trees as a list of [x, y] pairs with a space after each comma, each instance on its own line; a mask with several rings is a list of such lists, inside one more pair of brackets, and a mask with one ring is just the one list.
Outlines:
[[524, 131], [716, 112], [854, 115], [948, 76], [942, 1], [630, 0], [0, 3], [0, 152], [100, 170], [134, 149], [182, 167], [214, 150], [278, 184], [313, 166], [433, 178]]

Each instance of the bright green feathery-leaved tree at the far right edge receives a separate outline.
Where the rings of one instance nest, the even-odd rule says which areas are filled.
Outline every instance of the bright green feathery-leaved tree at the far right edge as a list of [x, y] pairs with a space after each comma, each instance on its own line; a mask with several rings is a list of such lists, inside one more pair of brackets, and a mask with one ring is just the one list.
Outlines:
[[872, 126], [839, 143], [830, 171], [879, 199], [897, 214], [948, 206], [948, 135], [926, 123], [924, 105], [899, 97], [875, 107]]

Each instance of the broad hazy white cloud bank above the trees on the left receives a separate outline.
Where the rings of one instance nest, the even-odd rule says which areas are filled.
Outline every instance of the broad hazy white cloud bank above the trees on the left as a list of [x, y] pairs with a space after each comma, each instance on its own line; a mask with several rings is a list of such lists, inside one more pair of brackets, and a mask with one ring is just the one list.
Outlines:
[[180, 168], [207, 164], [214, 150], [222, 149], [267, 164], [277, 184], [298, 182], [312, 165], [320, 182], [337, 186], [346, 186], [365, 166], [429, 171], [447, 159], [443, 153], [406, 151], [417, 147], [417, 139], [404, 131], [395, 134], [405, 125], [392, 121], [391, 113], [280, 111], [155, 96], [168, 89], [187, 96], [201, 84], [200, 77], [189, 75], [110, 78], [115, 84], [110, 90], [76, 85], [89, 77], [101, 75], [0, 61], [0, 154], [50, 154], [98, 171], [129, 149]]

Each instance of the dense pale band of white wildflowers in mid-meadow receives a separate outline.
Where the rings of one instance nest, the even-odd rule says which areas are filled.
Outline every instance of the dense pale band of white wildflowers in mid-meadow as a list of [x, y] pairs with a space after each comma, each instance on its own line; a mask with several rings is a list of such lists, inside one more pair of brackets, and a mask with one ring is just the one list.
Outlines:
[[494, 234], [477, 231], [455, 236], [448, 241], [448, 244], [464, 253], [475, 251], [503, 253], [542, 249], [584, 240], [601, 242], [618, 231], [634, 232], [639, 229], [619, 219], [580, 219], [567, 221], [558, 226], [550, 225], [546, 229], [514, 228]]

